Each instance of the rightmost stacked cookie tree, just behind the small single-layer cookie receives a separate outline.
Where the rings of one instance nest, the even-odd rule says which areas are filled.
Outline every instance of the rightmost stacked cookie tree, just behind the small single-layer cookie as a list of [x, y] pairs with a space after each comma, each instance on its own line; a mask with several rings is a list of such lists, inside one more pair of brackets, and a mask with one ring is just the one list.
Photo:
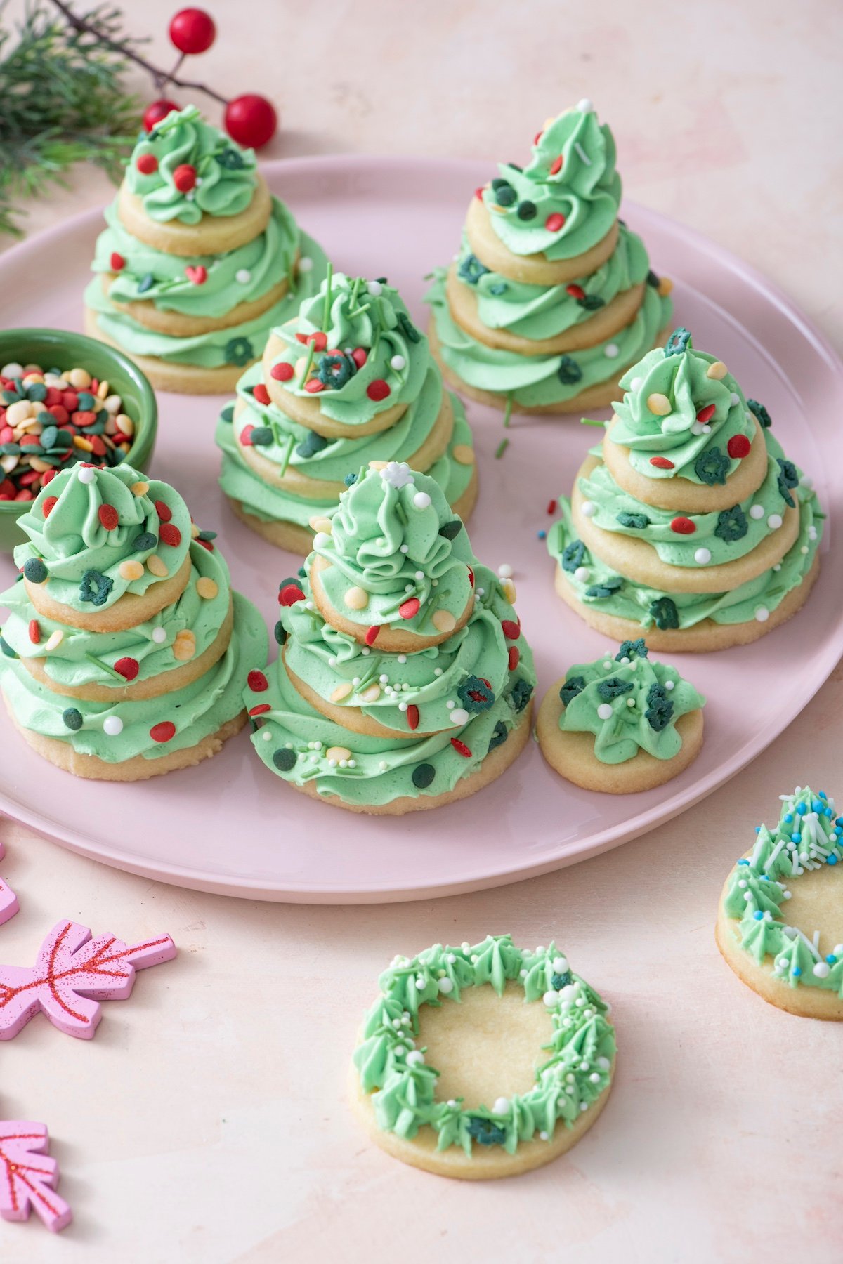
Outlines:
[[547, 536], [556, 592], [616, 640], [744, 645], [800, 609], [819, 569], [810, 479], [725, 364], [677, 329], [622, 379], [603, 442]]

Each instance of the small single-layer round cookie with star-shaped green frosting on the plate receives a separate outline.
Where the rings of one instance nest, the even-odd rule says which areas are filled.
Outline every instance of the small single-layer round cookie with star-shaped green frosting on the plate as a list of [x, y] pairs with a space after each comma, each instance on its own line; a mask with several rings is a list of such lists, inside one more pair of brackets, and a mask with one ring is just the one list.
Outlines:
[[705, 699], [643, 640], [576, 664], [551, 685], [536, 723], [551, 769], [584, 790], [633, 794], [679, 776], [703, 746]]

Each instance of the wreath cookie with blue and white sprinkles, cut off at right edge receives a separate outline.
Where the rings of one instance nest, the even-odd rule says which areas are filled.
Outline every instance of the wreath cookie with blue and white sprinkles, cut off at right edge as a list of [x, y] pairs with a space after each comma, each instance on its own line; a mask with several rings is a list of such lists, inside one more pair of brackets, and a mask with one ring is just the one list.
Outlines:
[[717, 944], [765, 1001], [842, 1021], [843, 817], [823, 790], [780, 798], [779, 824], [756, 827], [756, 846], [723, 887]]

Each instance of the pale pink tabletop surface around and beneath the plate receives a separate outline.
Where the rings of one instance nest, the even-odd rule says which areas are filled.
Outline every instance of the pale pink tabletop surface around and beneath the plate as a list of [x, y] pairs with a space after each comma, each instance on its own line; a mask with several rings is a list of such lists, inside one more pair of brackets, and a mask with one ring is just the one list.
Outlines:
[[[138, 30], [163, 35], [174, 5], [131, 8]], [[222, 34], [196, 77], [279, 96], [272, 157], [506, 158], [589, 95], [616, 131], [627, 193], [767, 272], [839, 346], [840, 29], [827, 3], [607, 0], [598, 13], [436, 0], [402, 16], [394, 3], [267, 0], [248, 21], [241, 4], [214, 9]], [[154, 51], [168, 59], [163, 39]], [[106, 197], [81, 172], [30, 226]], [[1, 872], [23, 905], [0, 933], [6, 961], [30, 961], [62, 915], [135, 940], [167, 930], [182, 952], [106, 1012], [94, 1042], [35, 1021], [0, 1049], [0, 1115], [49, 1125], [76, 1211], [59, 1240], [1, 1225], [3, 1258], [838, 1261], [840, 1033], [753, 997], [712, 924], [731, 862], [779, 793], [809, 781], [843, 800], [842, 709], [838, 667], [787, 733], [677, 820], [549, 877], [412, 905], [192, 894], [4, 823]], [[613, 1002], [621, 1058], [612, 1101], [569, 1157], [474, 1188], [373, 1149], [345, 1107], [345, 1064], [394, 952], [489, 930], [564, 944]]]

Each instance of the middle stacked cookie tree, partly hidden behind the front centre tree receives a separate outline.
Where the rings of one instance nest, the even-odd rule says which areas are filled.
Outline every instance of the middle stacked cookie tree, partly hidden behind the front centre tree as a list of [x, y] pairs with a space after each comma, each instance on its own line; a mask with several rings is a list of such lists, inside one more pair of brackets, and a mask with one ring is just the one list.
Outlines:
[[463, 518], [476, 499], [463, 404], [383, 279], [329, 274], [244, 373], [216, 441], [234, 512], [293, 552], [310, 551], [348, 471], [373, 459], [430, 474]]

